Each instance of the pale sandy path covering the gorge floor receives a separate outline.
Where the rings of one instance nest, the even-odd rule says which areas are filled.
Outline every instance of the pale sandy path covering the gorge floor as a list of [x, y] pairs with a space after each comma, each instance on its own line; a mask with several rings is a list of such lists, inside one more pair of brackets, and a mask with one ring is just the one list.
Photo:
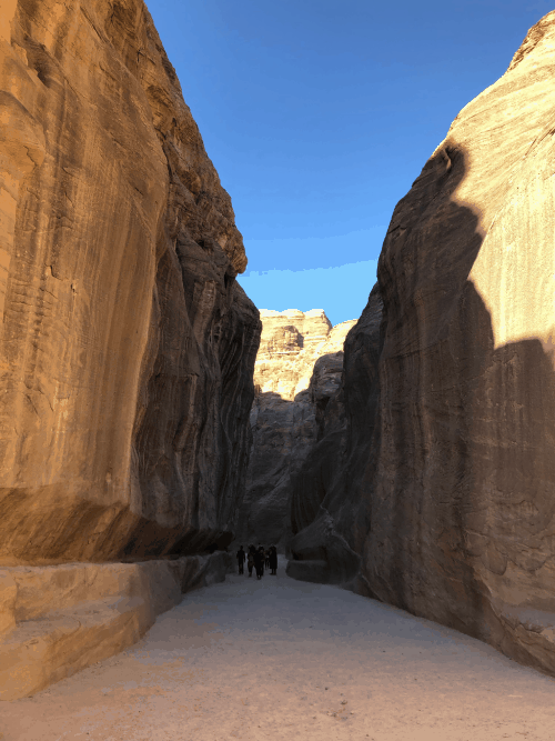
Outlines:
[[132, 649], [1, 703], [4, 741], [555, 739], [555, 680], [281, 567], [191, 592]]

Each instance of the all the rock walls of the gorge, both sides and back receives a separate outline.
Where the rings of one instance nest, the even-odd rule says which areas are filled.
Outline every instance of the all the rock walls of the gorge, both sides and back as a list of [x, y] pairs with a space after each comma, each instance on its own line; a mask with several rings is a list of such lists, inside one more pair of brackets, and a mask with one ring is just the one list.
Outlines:
[[555, 11], [332, 327], [238, 283], [143, 0], [2, 6], [1, 700], [137, 642], [250, 542], [555, 674], [554, 48]]

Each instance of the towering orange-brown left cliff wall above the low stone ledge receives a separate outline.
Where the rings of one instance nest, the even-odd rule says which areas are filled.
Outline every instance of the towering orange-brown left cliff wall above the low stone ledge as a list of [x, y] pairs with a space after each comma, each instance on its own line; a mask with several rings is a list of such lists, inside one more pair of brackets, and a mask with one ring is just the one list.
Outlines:
[[142, 0], [0, 23], [0, 563], [232, 537], [259, 313]]

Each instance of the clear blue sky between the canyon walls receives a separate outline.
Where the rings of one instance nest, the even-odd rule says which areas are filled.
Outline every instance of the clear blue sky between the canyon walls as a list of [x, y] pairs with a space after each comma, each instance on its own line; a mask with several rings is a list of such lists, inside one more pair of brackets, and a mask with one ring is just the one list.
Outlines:
[[396, 202], [544, 0], [147, 0], [260, 309], [357, 318]]

